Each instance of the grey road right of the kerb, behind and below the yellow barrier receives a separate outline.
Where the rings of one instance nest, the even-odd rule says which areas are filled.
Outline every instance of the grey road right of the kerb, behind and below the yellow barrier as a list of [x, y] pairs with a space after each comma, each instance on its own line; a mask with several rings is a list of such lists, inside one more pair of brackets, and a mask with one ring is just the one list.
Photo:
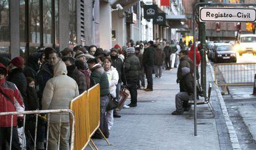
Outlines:
[[[241, 57], [237, 55], [237, 63], [256, 63], [256, 56], [245, 53]], [[236, 72], [243, 72], [244, 69], [248, 69], [247, 65], [242, 65], [241, 68], [229, 68], [229, 73], [222, 73], [224, 81], [229, 81], [227, 78], [234, 76]], [[252, 69], [249, 67], [249, 69]], [[252, 73], [245, 73], [246, 76]], [[249, 76], [254, 81], [253, 76]], [[239, 79], [233, 79], [231, 82], [242, 81], [245, 76], [238, 76]], [[246, 79], [249, 80], [249, 79]], [[253, 85], [249, 86], [229, 86], [229, 94], [226, 92], [223, 95], [226, 107], [231, 121], [237, 133], [237, 138], [242, 149], [256, 149], [256, 96], [251, 95], [253, 92]]]

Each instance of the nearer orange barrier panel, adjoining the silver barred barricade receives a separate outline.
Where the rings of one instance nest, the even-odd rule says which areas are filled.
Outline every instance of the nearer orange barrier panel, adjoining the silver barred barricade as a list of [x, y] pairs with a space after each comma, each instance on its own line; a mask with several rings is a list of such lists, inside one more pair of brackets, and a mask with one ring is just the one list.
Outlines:
[[74, 149], [85, 149], [89, 144], [90, 148], [90, 124], [89, 124], [89, 103], [87, 92], [83, 92], [79, 97], [70, 101], [70, 109], [74, 112], [75, 121], [75, 140]]

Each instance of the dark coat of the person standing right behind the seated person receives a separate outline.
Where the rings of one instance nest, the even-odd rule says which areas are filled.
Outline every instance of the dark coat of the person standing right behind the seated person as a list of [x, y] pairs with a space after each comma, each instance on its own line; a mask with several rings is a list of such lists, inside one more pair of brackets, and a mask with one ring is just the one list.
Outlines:
[[184, 67], [187, 67], [190, 69], [190, 73], [194, 73], [194, 65], [193, 65], [192, 61], [190, 60], [190, 58], [187, 57], [187, 55], [182, 56], [179, 61], [180, 61], [180, 63], [179, 63], [179, 67], [177, 69], [177, 80], [181, 81], [182, 80], [181, 69]]

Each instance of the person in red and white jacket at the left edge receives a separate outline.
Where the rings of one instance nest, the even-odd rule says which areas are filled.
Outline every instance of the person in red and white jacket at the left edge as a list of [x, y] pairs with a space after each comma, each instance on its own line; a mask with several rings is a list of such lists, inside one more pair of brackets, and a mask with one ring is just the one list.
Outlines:
[[[24, 111], [22, 96], [19, 90], [12, 82], [6, 81], [7, 68], [0, 63], [0, 112]], [[13, 118], [12, 118], [13, 117]], [[4, 146], [4, 142], [10, 144], [12, 131], [12, 149], [20, 149], [21, 144], [17, 126], [23, 125], [22, 116], [6, 115], [0, 116], [0, 149]]]

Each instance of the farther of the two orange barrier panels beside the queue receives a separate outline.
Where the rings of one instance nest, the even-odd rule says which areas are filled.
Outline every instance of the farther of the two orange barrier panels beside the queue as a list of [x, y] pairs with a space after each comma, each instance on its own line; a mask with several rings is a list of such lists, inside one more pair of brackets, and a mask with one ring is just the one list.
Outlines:
[[88, 90], [90, 136], [100, 127], [100, 84]]

